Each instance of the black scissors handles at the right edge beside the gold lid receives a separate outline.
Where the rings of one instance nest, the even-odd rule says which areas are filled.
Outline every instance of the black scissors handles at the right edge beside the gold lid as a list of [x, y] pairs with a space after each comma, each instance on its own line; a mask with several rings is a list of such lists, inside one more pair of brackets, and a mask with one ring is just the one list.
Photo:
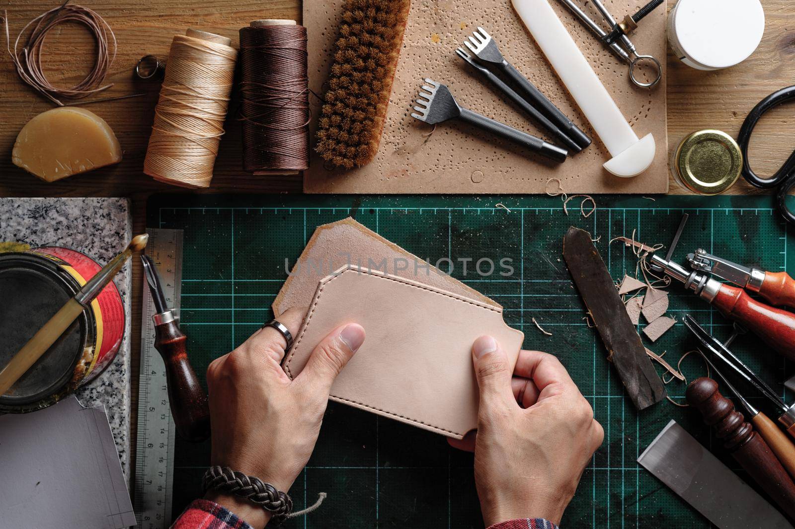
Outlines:
[[795, 187], [795, 151], [789, 155], [789, 158], [781, 165], [781, 168], [770, 178], [760, 178], [753, 169], [750, 168], [748, 161], [748, 144], [750, 142], [750, 135], [754, 132], [754, 127], [759, 122], [765, 113], [778, 106], [789, 99], [795, 98], [795, 86], [781, 88], [773, 94], [768, 95], [762, 101], [758, 102], [757, 106], [748, 113], [748, 117], [740, 127], [740, 133], [737, 137], [737, 143], [743, 152], [743, 178], [747, 180], [754, 187], [762, 189], [770, 189], [771, 187], [778, 186], [776, 192], [776, 209], [778, 213], [785, 219], [786, 222], [795, 224], [795, 214], [789, 207], [787, 207], [787, 195], [789, 190]]

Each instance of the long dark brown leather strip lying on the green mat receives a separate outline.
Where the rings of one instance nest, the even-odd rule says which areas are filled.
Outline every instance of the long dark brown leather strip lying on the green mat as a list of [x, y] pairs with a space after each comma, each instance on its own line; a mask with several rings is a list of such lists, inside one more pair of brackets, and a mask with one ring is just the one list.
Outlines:
[[563, 257], [634, 406], [643, 410], [663, 400], [665, 386], [646, 356], [591, 234], [569, 228], [563, 239]]

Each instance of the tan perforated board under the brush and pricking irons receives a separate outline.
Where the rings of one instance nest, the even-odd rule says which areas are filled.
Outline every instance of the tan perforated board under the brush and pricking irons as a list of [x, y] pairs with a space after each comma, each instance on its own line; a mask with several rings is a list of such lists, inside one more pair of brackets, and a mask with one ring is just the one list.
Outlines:
[[[632, 36], [640, 53], [657, 57], [663, 65], [660, 83], [648, 89], [631, 84], [626, 64], [604, 48], [560, 2], [551, 0], [551, 3], [638, 137], [653, 133], [657, 156], [646, 172], [623, 179], [602, 167], [611, 156], [527, 33], [510, 0], [414, 0], [378, 156], [363, 168], [346, 171], [324, 167], [323, 160], [312, 149], [312, 163], [304, 172], [304, 192], [543, 193], [550, 178], [560, 179], [568, 193], [668, 191], [665, 10], [657, 9], [644, 18]], [[618, 18], [634, 12], [636, 4], [615, 0], [608, 2], [607, 7]], [[593, 20], [601, 20], [590, 4], [582, 2], [582, 5]], [[309, 87], [317, 95], [324, 92], [342, 6], [343, 0], [304, 2]], [[445, 122], [433, 130], [431, 125], [409, 115], [422, 79], [430, 77], [447, 84], [456, 100], [470, 110], [553, 140], [456, 56], [456, 48], [478, 26], [491, 34], [511, 64], [594, 138], [588, 149], [555, 165], [470, 125]], [[315, 97], [310, 101], [313, 138], [321, 102]], [[549, 184], [550, 189], [555, 187], [555, 183]]]

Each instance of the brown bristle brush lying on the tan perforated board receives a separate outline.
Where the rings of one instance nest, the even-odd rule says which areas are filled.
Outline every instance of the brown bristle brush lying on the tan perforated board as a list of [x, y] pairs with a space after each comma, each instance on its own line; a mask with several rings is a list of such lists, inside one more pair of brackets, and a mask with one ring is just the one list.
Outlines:
[[409, 0], [347, 0], [316, 151], [330, 164], [353, 168], [378, 153], [400, 56]]

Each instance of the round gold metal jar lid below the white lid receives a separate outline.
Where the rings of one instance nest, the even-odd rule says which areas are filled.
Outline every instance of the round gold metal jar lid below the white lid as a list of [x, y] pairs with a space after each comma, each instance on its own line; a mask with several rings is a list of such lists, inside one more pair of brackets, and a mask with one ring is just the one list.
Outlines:
[[733, 186], [743, 170], [737, 142], [720, 130], [696, 130], [680, 142], [672, 160], [673, 176], [699, 195], [718, 195]]

